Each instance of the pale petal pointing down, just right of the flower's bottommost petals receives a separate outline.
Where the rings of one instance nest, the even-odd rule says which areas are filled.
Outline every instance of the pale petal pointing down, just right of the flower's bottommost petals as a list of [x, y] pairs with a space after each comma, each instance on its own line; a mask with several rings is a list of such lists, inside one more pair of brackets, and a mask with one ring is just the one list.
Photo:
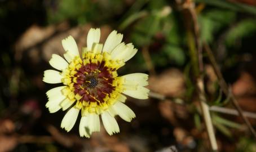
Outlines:
[[113, 133], [120, 132], [120, 129], [118, 127], [116, 119], [114, 119], [114, 117], [112, 117], [108, 113], [108, 111], [104, 111], [101, 114], [101, 119], [102, 119], [103, 125], [109, 135], [113, 135]]

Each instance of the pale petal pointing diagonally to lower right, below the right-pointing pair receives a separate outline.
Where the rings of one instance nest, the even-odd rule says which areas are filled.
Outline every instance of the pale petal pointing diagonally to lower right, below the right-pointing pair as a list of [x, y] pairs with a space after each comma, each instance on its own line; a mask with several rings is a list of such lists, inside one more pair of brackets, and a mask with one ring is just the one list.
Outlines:
[[113, 108], [123, 120], [126, 120], [126, 122], [131, 122], [131, 119], [136, 117], [133, 110], [131, 110], [127, 105], [123, 104], [122, 102], [117, 101], [113, 105]]

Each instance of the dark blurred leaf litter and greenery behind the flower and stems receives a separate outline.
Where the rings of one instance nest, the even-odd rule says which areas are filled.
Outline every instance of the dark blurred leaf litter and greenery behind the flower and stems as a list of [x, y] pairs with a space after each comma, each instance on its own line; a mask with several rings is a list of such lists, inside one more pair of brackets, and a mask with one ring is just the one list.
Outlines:
[[[208, 151], [193, 76], [195, 16], [189, 8], [200, 43], [209, 44], [256, 126], [255, 6], [253, 0], [1, 0], [0, 151]], [[88, 139], [79, 136], [78, 121], [69, 133], [60, 128], [65, 111], [50, 114], [45, 108], [45, 92], [58, 85], [42, 77], [51, 54], [63, 54], [61, 39], [72, 35], [81, 48], [91, 27], [101, 29], [101, 42], [116, 29], [138, 48], [118, 73], [148, 73], [153, 97], [128, 98], [136, 119], [117, 118], [120, 133], [109, 136], [101, 127]], [[256, 151], [242, 119], [227, 114], [235, 108], [202, 50], [206, 99], [210, 107], [225, 108], [211, 110], [219, 151]]]

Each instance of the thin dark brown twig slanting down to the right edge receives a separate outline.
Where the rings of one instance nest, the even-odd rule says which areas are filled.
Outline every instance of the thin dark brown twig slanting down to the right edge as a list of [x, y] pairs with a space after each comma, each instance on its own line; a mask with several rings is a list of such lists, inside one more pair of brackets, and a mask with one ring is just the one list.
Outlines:
[[220, 72], [219, 66], [217, 64], [217, 61], [215, 60], [215, 57], [213, 55], [213, 52], [210, 50], [210, 47], [208, 46], [207, 43], [204, 43], [204, 48], [205, 51], [208, 54], [208, 57], [210, 59], [211, 65], [213, 65], [213, 69], [218, 77], [218, 82], [219, 82], [219, 86], [220, 88], [222, 88], [223, 92], [225, 93], [226, 96], [230, 96], [232, 104], [235, 106], [235, 108], [237, 109], [237, 111], [239, 112], [240, 116], [242, 117], [242, 119], [244, 120], [244, 122], [246, 123], [246, 126], [248, 126], [248, 128], [250, 129], [250, 132], [253, 134], [253, 136], [256, 138], [256, 132], [253, 128], [253, 126], [251, 126], [251, 123], [249, 122], [249, 120], [245, 117], [244, 113], [242, 112], [241, 107], [239, 106], [235, 96], [233, 95], [230, 87], [228, 86], [228, 84], [226, 83], [226, 81], [223, 78], [222, 73]]

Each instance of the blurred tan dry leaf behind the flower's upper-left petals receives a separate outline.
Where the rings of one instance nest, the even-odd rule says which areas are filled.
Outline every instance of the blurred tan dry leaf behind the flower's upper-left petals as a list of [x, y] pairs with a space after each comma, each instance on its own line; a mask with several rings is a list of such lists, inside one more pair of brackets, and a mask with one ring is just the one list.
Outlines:
[[[90, 24], [76, 26], [69, 29], [66, 23], [60, 25], [51, 25], [46, 28], [37, 25], [31, 26], [15, 44], [16, 60], [29, 59], [37, 64], [42, 58], [45, 61], [50, 60], [53, 53], [63, 55], [64, 50], [61, 40], [72, 35], [77, 42], [78, 49], [86, 46], [87, 33], [91, 28]], [[104, 42], [111, 32], [109, 26], [101, 27], [100, 42]]]

